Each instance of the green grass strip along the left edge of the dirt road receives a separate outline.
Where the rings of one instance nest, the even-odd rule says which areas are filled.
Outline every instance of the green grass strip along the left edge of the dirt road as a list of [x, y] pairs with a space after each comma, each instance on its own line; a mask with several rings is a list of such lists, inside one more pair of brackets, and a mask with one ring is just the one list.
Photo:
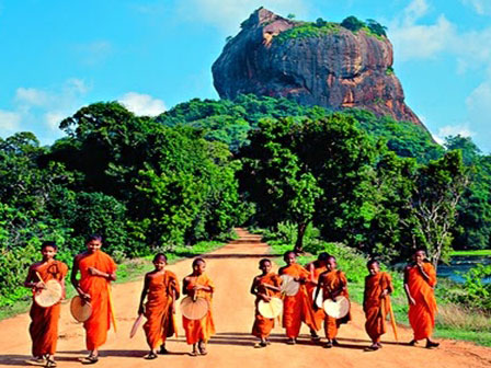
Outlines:
[[[198, 242], [193, 246], [178, 246], [172, 252], [165, 252], [168, 256], [168, 263], [174, 264], [183, 258], [195, 257], [197, 255], [215, 251], [216, 249], [225, 245], [222, 242], [209, 241], [209, 242]], [[134, 281], [140, 278], [145, 273], [151, 271], [153, 265], [151, 260], [153, 255], [149, 255], [141, 258], [125, 260], [117, 265], [117, 280], [116, 284], [124, 284], [128, 281]], [[73, 287], [70, 284], [70, 276], [66, 278], [67, 283], [67, 297], [66, 301], [76, 295]], [[15, 301], [12, 306], [2, 307], [0, 309], [0, 321], [12, 318], [16, 314], [25, 313], [31, 308], [31, 297], [25, 297], [21, 300]]]

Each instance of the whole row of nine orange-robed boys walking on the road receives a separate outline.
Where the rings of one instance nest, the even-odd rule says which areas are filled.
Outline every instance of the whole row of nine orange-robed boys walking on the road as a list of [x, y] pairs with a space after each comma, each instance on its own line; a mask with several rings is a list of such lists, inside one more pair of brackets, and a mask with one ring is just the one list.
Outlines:
[[[100, 235], [89, 237], [85, 245], [87, 251], [73, 260], [70, 280], [83, 303], [89, 303], [91, 307], [91, 314], [83, 322], [89, 354], [80, 359], [82, 364], [90, 365], [99, 361], [99, 348], [105, 343], [111, 325], [114, 327], [116, 325], [110, 288], [111, 281], [116, 279], [116, 263], [101, 250]], [[49, 280], [57, 280], [65, 294], [68, 266], [55, 258], [56, 244], [44, 242], [41, 253], [43, 260], [30, 267], [24, 286], [32, 288], [36, 296], [46, 289]], [[436, 347], [438, 343], [431, 340], [436, 312], [433, 292], [436, 284], [435, 272], [433, 266], [425, 262], [423, 251], [416, 251], [413, 258], [414, 262], [404, 271], [409, 320], [414, 331], [414, 338], [410, 345], [414, 345], [419, 340], [426, 340], [426, 347]], [[253, 278], [251, 292], [255, 295], [256, 300], [252, 335], [259, 337], [254, 347], [263, 348], [270, 344], [269, 337], [276, 317], [264, 315], [259, 306], [261, 302], [271, 303], [273, 299], [282, 300], [282, 320], [287, 344], [297, 343], [301, 323], [309, 326], [313, 341], [320, 341], [318, 332], [323, 322], [327, 338], [323, 347], [331, 348], [339, 345], [338, 331], [341, 324], [351, 320], [351, 313], [347, 311], [343, 317], [335, 318], [326, 313], [322, 306], [316, 302], [319, 299], [335, 301], [340, 297], [349, 300], [347, 279], [345, 274], [336, 268], [335, 257], [320, 253], [317, 261], [304, 267], [297, 264], [294, 252], [286, 252], [284, 261], [286, 265], [276, 274], [272, 271], [273, 264], [270, 260], [261, 260], [259, 263], [261, 274]], [[144, 331], [150, 348], [145, 356], [146, 359], [155, 359], [159, 354], [167, 354], [165, 340], [176, 334], [178, 330], [174, 313], [181, 288], [176, 275], [167, 271], [165, 265], [164, 254], [159, 253], [153, 257], [155, 269], [145, 275], [138, 306], [138, 314], [146, 318]], [[381, 347], [380, 336], [387, 330], [386, 317], [390, 311], [389, 296], [393, 287], [390, 275], [380, 272], [377, 261], [369, 261], [367, 268], [363, 309], [366, 315], [365, 327], [373, 342], [367, 349], [377, 350]], [[182, 294], [187, 297], [189, 310], [186, 313], [182, 309], [182, 323], [186, 342], [192, 345], [190, 353], [192, 356], [206, 355], [206, 344], [215, 333], [212, 312], [215, 286], [205, 269], [206, 262], [203, 258], [195, 258], [192, 263], [192, 273], [182, 281]], [[285, 280], [297, 284], [296, 292], [285, 292]], [[50, 307], [41, 307], [33, 302], [30, 312], [33, 354], [33, 359], [28, 360], [31, 365], [56, 367], [59, 313], [59, 301]]]

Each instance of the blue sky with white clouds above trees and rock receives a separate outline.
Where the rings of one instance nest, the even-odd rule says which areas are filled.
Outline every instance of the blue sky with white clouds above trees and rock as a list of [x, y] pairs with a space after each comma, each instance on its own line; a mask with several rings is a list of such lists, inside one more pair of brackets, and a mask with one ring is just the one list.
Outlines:
[[218, 99], [212, 65], [259, 7], [377, 20], [435, 139], [470, 136], [491, 153], [491, 0], [0, 0], [0, 137], [33, 131], [49, 145], [61, 119], [100, 101], [153, 116]]

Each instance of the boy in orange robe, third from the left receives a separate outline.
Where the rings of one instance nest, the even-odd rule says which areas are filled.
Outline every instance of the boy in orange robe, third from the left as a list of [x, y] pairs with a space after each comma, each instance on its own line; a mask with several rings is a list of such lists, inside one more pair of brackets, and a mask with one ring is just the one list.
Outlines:
[[[175, 313], [175, 300], [179, 299], [179, 281], [174, 273], [164, 269], [165, 265], [165, 254], [158, 253], [153, 257], [155, 269], [145, 275], [144, 290], [138, 308], [138, 314], [145, 314], [147, 318], [144, 330], [150, 353], [145, 356], [145, 359], [157, 358], [159, 346], [160, 354], [168, 354], [165, 340], [176, 332], [173, 314]], [[145, 298], [147, 298], [147, 303], [144, 307]]]

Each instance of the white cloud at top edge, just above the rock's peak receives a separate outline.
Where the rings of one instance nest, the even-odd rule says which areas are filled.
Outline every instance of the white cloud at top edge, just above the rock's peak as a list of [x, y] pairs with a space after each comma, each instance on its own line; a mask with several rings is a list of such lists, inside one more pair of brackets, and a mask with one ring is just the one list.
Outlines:
[[190, 21], [202, 21], [230, 34], [238, 32], [240, 23], [260, 7], [283, 16], [308, 14], [305, 0], [181, 0], [180, 12]]

